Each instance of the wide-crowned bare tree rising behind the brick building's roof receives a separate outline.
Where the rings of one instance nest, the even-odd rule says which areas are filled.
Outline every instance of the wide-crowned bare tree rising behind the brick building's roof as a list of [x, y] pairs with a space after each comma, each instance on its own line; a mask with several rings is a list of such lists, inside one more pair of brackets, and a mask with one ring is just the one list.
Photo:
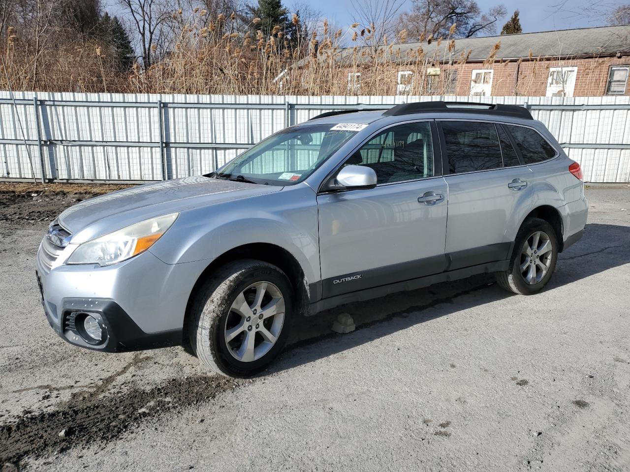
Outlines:
[[413, 0], [411, 12], [399, 17], [398, 30], [407, 30], [410, 37], [438, 38], [447, 37], [455, 25], [455, 36], [470, 38], [495, 33], [498, 21], [506, 14], [502, 4], [484, 13], [474, 0]]

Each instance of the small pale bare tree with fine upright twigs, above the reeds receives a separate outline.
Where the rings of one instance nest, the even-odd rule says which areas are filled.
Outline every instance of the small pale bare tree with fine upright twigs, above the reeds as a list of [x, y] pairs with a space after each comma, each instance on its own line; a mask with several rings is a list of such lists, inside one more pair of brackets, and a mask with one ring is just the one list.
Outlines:
[[396, 17], [403, 0], [352, 0], [353, 18], [361, 28], [358, 39], [376, 53], [396, 35]]

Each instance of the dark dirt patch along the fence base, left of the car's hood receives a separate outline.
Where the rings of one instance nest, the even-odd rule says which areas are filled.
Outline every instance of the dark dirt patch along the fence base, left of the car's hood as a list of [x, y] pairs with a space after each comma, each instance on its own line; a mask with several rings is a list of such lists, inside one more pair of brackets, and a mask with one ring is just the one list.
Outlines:
[[0, 223], [50, 222], [67, 207], [130, 185], [0, 183]]

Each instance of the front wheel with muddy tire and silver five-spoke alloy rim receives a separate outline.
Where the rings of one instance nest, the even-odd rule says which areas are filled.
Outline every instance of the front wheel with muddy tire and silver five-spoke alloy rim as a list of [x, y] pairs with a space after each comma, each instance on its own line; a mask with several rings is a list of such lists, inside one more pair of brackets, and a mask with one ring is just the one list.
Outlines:
[[278, 267], [254, 259], [230, 262], [193, 299], [190, 347], [219, 374], [251, 376], [282, 351], [293, 313], [293, 289]]

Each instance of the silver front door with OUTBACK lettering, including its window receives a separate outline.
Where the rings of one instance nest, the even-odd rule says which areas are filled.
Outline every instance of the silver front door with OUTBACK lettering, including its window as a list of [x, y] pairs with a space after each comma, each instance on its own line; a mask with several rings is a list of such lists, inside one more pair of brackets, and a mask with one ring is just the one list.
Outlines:
[[429, 120], [381, 130], [343, 164], [372, 167], [377, 186], [318, 195], [323, 298], [445, 270], [448, 188], [435, 133]]

